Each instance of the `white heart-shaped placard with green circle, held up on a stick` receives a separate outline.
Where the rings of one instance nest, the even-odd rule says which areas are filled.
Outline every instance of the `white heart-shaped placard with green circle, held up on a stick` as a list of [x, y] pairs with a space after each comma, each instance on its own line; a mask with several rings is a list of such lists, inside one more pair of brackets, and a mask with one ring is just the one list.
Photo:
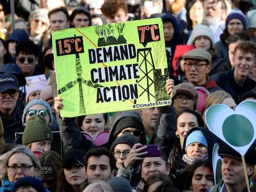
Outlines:
[[233, 111], [224, 104], [207, 109], [205, 120], [209, 130], [242, 156], [256, 139], [256, 102], [243, 101]]

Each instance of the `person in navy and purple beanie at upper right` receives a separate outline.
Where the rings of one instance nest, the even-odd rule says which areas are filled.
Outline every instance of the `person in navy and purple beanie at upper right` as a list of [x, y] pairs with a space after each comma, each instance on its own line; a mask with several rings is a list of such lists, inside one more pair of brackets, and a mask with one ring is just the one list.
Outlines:
[[247, 28], [245, 15], [239, 9], [233, 9], [228, 15], [225, 23], [225, 29], [220, 35], [220, 41], [215, 44], [217, 55], [225, 61], [229, 61], [228, 44], [226, 40], [229, 36], [240, 33]]

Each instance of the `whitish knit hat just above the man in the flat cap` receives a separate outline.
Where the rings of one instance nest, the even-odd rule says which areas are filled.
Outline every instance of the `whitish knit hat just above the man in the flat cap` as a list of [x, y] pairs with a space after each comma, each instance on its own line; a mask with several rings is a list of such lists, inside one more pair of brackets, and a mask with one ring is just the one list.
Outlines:
[[189, 37], [189, 40], [187, 40], [187, 44], [194, 44], [194, 41], [198, 36], [207, 36], [211, 41], [211, 46], [214, 45], [213, 31], [211, 31], [211, 28], [207, 25], [196, 25]]

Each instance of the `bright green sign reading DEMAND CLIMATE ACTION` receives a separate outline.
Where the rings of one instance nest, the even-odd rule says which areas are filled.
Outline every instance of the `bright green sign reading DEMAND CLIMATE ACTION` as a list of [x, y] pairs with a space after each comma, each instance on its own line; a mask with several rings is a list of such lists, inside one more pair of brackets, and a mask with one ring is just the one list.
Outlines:
[[171, 104], [160, 18], [53, 31], [62, 117]]

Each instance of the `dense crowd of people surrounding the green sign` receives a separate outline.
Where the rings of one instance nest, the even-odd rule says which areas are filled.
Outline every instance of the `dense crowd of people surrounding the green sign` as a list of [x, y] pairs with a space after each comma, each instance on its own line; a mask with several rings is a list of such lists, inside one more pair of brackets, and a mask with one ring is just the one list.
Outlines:
[[[14, 7], [0, 1], [0, 191], [256, 191], [256, 143], [243, 164], [205, 122], [214, 104], [235, 110], [256, 101], [254, 1], [17, 0]], [[61, 117], [51, 32], [155, 17], [163, 21], [172, 104]]]

